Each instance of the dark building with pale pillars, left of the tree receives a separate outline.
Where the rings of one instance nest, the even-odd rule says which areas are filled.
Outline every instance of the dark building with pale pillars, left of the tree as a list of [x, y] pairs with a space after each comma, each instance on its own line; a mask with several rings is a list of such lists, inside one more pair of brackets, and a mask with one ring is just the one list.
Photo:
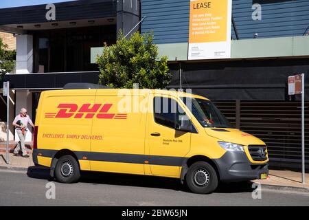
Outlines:
[[[118, 31], [128, 33], [139, 17], [139, 0], [80, 0], [1, 8], [0, 32], [16, 37], [16, 70], [4, 78], [12, 89], [10, 118], [26, 107], [35, 120], [38, 98], [46, 89], [62, 89], [66, 83], [98, 83], [98, 66], [91, 63], [91, 52], [104, 43], [115, 43]], [[5, 122], [5, 104], [0, 108], [0, 119]], [[12, 126], [10, 132], [14, 134]], [[10, 139], [14, 136], [18, 140], [17, 135], [10, 135]], [[28, 132], [26, 141], [30, 140], [32, 133]]]

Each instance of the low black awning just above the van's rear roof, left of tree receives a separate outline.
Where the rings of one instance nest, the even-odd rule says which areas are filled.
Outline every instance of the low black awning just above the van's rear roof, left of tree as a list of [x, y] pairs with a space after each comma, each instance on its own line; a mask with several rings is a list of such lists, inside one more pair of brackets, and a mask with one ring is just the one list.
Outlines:
[[67, 83], [98, 83], [99, 72], [65, 72], [45, 74], [9, 74], [11, 89], [61, 89]]

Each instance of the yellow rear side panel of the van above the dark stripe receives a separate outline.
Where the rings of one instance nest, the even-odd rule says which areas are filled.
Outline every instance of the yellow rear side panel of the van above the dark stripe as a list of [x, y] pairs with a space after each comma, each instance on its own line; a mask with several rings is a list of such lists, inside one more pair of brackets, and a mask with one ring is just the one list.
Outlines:
[[[60, 110], [59, 104], [76, 104], [80, 107], [84, 103], [93, 103], [95, 91], [91, 89], [65, 92], [64, 90], [44, 91], [42, 94], [44, 104], [38, 109], [39, 122], [36, 120], [36, 125], [39, 125], [38, 146], [42, 149], [90, 151], [90, 140], [86, 137], [91, 135], [92, 119], [53, 118], [52, 116]], [[73, 113], [74, 110], [61, 109], [67, 109], [68, 113]]]

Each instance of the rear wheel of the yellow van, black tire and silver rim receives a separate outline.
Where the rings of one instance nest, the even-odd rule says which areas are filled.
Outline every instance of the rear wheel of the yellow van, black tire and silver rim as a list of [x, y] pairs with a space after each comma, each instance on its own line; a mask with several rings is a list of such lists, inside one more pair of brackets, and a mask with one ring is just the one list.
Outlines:
[[55, 168], [55, 177], [65, 184], [72, 184], [80, 179], [80, 166], [71, 155], [65, 155], [58, 159]]

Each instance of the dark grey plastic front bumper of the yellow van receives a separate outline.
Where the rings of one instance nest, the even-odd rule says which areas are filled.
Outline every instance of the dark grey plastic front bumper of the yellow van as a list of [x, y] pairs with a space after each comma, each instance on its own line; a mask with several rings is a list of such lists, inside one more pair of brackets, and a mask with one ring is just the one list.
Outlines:
[[261, 173], [268, 175], [268, 164], [253, 164], [244, 152], [227, 151], [214, 159], [221, 181], [246, 181], [260, 179]]

